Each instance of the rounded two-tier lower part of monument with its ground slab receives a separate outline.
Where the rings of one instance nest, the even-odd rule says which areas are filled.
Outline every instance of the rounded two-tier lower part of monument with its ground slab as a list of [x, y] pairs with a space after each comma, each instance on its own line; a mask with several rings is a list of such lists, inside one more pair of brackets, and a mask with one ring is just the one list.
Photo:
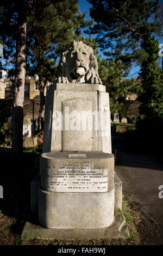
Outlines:
[[129, 236], [122, 212], [114, 213], [122, 209], [122, 182], [114, 172], [114, 155], [44, 153], [40, 163], [40, 173], [31, 182], [31, 210], [39, 211], [45, 228], [27, 222], [22, 236], [68, 240]]

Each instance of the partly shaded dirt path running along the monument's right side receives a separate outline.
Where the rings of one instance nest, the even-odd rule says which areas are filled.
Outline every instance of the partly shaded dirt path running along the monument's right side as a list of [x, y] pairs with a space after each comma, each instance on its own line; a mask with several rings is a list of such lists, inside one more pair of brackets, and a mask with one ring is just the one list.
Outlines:
[[159, 186], [163, 185], [163, 159], [133, 153], [126, 140], [112, 138], [115, 171], [122, 180], [123, 193], [131, 205], [139, 206], [144, 216], [140, 223], [144, 244], [163, 245], [163, 198]]

